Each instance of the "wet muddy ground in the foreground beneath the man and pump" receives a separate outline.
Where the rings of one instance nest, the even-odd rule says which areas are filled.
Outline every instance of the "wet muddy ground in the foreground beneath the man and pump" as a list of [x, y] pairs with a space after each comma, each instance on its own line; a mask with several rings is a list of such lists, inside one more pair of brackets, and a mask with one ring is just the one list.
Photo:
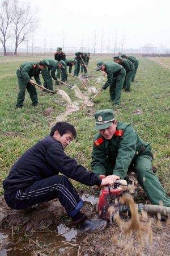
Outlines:
[[[82, 212], [88, 218], [99, 218], [97, 187], [91, 188], [91, 196], [83, 192]], [[145, 197], [143, 203], [147, 203]], [[1, 196], [0, 206], [1, 256], [170, 255], [170, 222], [160, 221], [155, 216], [137, 216], [134, 212], [133, 225], [129, 217], [122, 220], [115, 217], [112, 225], [104, 230], [80, 235], [58, 199], [29, 210], [12, 210]]]

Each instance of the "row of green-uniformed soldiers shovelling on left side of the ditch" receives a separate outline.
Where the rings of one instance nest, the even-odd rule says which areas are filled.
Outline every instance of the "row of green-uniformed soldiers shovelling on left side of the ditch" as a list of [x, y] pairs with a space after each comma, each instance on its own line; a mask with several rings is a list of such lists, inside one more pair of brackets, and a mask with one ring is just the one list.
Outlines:
[[[35, 82], [31, 77], [34, 77], [37, 84], [42, 85], [40, 81], [40, 72], [44, 80], [42, 89], [53, 90], [53, 79], [58, 85], [59, 82], [67, 81], [67, 67], [69, 67], [69, 74], [71, 76], [78, 76], [80, 72], [80, 65], [84, 73], [87, 73], [87, 65], [90, 59], [90, 53], [76, 52], [73, 60], [66, 59], [66, 54], [62, 51], [61, 47], [57, 48], [54, 54], [54, 60], [44, 59], [40, 62], [30, 61], [20, 66], [16, 75], [18, 77], [19, 93], [17, 98], [16, 108], [22, 108], [25, 99], [25, 90], [27, 89], [33, 106], [39, 104], [37, 98], [37, 92], [35, 88]], [[74, 75], [72, 74], [72, 67], [75, 66]], [[56, 74], [57, 71], [57, 74]], [[60, 80], [61, 75], [61, 80]]]

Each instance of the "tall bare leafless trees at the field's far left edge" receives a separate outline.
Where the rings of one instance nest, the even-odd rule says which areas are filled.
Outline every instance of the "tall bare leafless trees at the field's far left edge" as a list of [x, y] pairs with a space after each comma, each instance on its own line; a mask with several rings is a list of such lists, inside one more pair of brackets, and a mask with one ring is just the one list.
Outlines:
[[14, 55], [17, 54], [19, 44], [27, 40], [28, 35], [35, 31], [39, 19], [36, 17], [38, 10], [32, 10], [31, 3], [19, 0], [3, 0], [0, 10], [0, 42], [4, 55], [6, 42], [11, 38], [15, 43]]

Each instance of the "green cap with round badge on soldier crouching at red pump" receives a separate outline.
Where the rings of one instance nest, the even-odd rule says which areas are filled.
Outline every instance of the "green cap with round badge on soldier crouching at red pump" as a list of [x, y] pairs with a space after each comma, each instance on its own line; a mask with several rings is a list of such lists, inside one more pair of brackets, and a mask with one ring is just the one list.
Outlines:
[[106, 129], [115, 120], [112, 109], [103, 109], [95, 113], [95, 130]]

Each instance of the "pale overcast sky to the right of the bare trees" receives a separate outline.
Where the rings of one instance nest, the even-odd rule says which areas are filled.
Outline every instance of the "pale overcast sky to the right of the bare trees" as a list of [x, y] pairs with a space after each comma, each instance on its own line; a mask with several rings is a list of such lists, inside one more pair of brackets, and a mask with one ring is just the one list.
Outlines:
[[[139, 48], [145, 44], [170, 48], [170, 0], [31, 0], [39, 27], [33, 45]], [[32, 45], [32, 37], [29, 37]]]

